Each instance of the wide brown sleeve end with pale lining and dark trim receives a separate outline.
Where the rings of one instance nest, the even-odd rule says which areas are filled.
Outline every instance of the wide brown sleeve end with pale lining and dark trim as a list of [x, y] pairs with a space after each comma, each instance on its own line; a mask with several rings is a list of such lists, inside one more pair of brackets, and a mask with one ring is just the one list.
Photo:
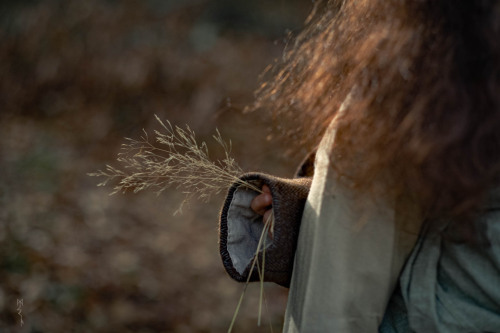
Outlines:
[[[274, 214], [273, 237], [266, 240], [264, 280], [290, 286], [297, 237], [302, 212], [309, 193], [311, 178], [284, 179], [260, 173], [249, 173], [241, 180], [258, 188], [266, 184], [271, 190]], [[247, 280], [255, 258], [264, 222], [250, 208], [258, 193], [239, 182], [228, 192], [220, 216], [220, 253], [229, 275], [240, 282]], [[262, 252], [258, 254], [259, 265]], [[258, 281], [257, 267], [250, 281]]]

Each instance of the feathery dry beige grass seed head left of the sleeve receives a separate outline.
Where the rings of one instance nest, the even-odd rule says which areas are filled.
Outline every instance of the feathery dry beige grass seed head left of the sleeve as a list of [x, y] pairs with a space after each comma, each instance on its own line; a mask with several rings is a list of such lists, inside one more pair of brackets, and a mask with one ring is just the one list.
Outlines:
[[163, 131], [154, 131], [154, 139], [150, 139], [144, 130], [139, 140], [126, 139], [127, 143], [122, 145], [122, 151], [118, 154], [122, 168], [107, 165], [105, 171], [90, 174], [105, 178], [99, 186], [118, 180], [111, 194], [128, 190], [137, 193], [146, 189], [160, 194], [169, 187], [175, 187], [185, 195], [176, 213], [190, 199], [195, 197], [208, 201], [212, 195], [233, 184], [262, 193], [260, 188], [239, 178], [243, 171], [230, 156], [231, 142], [226, 143], [218, 130], [213, 138], [224, 150], [225, 157], [212, 161], [207, 144], [198, 144], [189, 126], [185, 129], [172, 126], [157, 116], [156, 120]]

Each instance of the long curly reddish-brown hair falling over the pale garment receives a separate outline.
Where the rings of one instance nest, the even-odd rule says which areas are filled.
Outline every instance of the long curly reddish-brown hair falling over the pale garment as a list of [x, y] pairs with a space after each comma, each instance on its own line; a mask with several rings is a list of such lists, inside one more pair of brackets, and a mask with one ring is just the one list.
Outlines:
[[270, 73], [252, 109], [308, 148], [350, 96], [332, 156], [359, 191], [468, 219], [499, 181], [499, 1], [321, 2]]

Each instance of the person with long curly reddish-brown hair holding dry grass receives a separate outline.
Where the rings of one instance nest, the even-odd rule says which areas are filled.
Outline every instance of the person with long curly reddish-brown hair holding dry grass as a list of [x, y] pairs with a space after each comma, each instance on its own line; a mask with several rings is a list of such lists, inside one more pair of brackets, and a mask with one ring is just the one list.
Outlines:
[[283, 58], [254, 108], [313, 153], [229, 189], [229, 275], [284, 332], [500, 332], [500, 2], [321, 2]]

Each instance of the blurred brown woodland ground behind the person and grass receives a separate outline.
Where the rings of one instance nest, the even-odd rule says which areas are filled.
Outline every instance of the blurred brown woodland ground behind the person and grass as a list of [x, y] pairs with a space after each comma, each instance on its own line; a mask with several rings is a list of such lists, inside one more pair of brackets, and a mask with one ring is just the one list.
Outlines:
[[[117, 166], [124, 137], [157, 114], [247, 171], [291, 176], [298, 160], [243, 114], [259, 74], [300, 30], [310, 0], [0, 2], [0, 331], [224, 332], [243, 285], [218, 252], [224, 196], [175, 189], [109, 196], [87, 173]], [[210, 149], [210, 147], [209, 147]], [[257, 284], [235, 332], [281, 329], [287, 290]], [[21, 325], [21, 316], [23, 325]]]

